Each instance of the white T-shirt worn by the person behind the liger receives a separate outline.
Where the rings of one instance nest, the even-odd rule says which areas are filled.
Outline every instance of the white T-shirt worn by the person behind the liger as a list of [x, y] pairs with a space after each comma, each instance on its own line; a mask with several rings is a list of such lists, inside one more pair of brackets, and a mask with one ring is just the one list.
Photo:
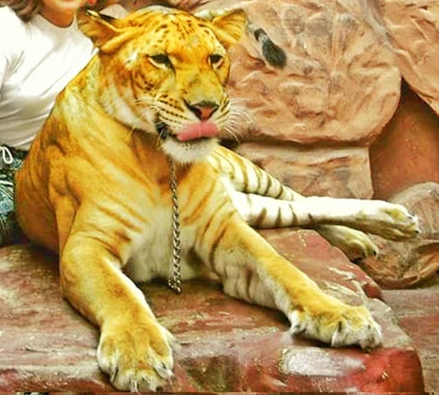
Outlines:
[[56, 95], [94, 53], [76, 21], [57, 27], [37, 14], [25, 23], [0, 7], [0, 145], [29, 149]]

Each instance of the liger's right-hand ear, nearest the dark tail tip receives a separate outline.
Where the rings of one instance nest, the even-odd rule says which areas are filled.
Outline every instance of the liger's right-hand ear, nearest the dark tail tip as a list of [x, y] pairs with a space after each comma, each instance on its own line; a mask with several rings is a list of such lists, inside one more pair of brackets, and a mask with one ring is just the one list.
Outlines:
[[213, 32], [224, 48], [235, 45], [244, 34], [247, 25], [247, 14], [244, 10], [237, 8], [225, 12], [212, 19], [211, 24], [215, 27]]

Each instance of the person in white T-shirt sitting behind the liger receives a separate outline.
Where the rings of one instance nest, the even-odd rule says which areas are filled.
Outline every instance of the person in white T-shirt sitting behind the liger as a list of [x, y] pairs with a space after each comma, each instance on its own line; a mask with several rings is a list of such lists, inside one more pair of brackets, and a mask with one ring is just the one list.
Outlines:
[[16, 233], [14, 173], [56, 95], [95, 48], [75, 12], [95, 0], [0, 0], [0, 246]]

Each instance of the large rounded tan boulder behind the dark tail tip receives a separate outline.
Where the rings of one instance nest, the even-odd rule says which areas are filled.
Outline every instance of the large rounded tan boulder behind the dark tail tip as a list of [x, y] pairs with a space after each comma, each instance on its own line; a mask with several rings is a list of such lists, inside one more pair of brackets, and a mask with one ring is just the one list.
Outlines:
[[356, 1], [172, 1], [182, 8], [244, 8], [287, 53], [283, 70], [263, 61], [253, 38], [231, 49], [230, 96], [255, 123], [243, 139], [370, 142], [398, 104], [401, 75], [383, 34]]

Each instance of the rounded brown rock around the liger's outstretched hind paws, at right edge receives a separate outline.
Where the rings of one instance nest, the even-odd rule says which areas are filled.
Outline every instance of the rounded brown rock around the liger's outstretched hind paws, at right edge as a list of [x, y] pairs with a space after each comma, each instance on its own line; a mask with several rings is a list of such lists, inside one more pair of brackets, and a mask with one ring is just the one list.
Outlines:
[[439, 269], [439, 184], [416, 184], [390, 202], [403, 204], [418, 215], [422, 234], [404, 243], [372, 235], [379, 256], [366, 259], [361, 266], [383, 287], [410, 287]]

